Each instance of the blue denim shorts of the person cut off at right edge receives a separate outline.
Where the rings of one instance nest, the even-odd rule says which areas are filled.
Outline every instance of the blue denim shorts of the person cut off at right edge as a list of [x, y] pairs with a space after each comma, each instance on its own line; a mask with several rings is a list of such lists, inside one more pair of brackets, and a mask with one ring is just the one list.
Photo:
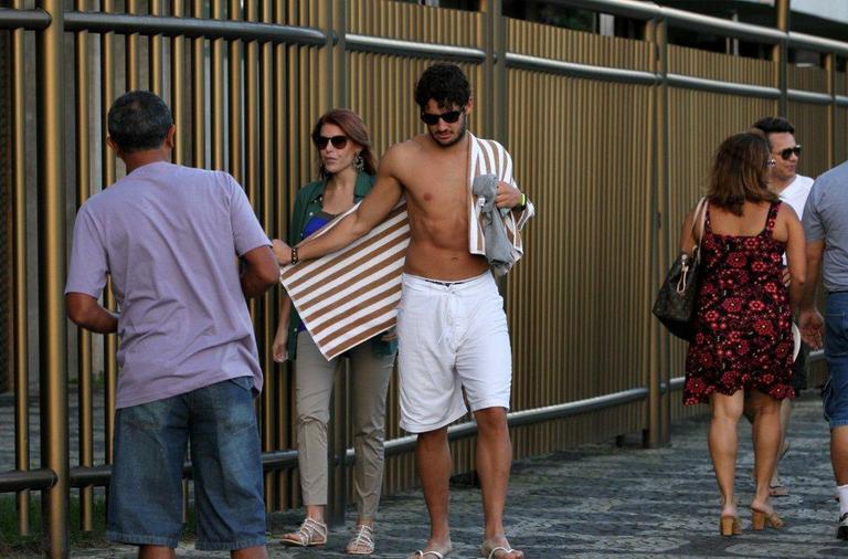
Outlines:
[[848, 425], [848, 293], [827, 296], [825, 360], [830, 378], [822, 390], [830, 429]]

